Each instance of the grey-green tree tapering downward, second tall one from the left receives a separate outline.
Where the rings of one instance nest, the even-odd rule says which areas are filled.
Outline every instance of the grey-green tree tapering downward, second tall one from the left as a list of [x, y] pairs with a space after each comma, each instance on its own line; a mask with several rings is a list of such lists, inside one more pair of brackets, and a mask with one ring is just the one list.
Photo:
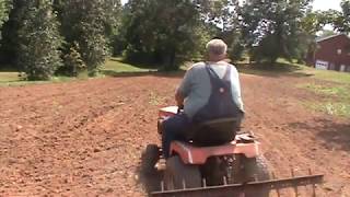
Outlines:
[[108, 44], [118, 24], [120, 1], [117, 0], [56, 0], [62, 23], [61, 33], [69, 43], [67, 51], [78, 43], [91, 76], [108, 55]]

